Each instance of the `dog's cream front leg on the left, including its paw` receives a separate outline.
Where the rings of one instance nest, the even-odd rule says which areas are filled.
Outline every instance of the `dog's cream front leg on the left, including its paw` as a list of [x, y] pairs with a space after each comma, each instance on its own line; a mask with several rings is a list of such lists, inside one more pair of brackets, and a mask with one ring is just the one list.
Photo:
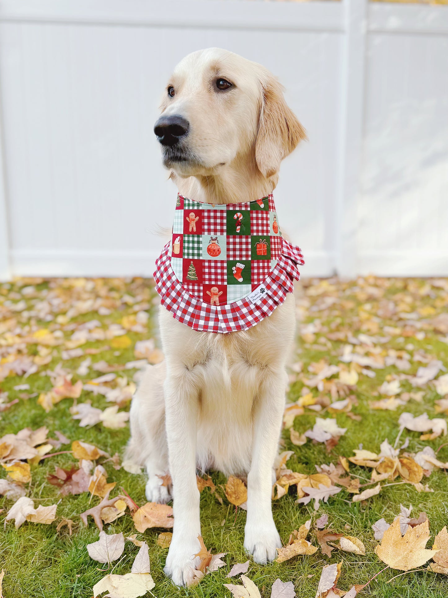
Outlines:
[[173, 539], [164, 568], [176, 585], [194, 579], [200, 551], [200, 495], [196, 483], [198, 392], [188, 370], [167, 373], [164, 385], [170, 474], [173, 480]]

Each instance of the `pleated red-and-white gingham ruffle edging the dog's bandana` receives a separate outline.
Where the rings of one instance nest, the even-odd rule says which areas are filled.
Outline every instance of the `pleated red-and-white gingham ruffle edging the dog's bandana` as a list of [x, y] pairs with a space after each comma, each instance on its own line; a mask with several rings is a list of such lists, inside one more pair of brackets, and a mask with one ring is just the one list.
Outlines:
[[211, 306], [189, 294], [177, 280], [171, 268], [170, 243], [165, 245], [156, 261], [155, 288], [161, 296], [161, 304], [182, 324], [200, 332], [236, 332], [247, 330], [271, 315], [274, 309], [293, 292], [293, 280], [299, 280], [297, 266], [303, 266], [300, 249], [283, 237], [281, 255], [277, 266], [264, 282], [266, 295], [252, 303], [244, 297], [234, 303]]

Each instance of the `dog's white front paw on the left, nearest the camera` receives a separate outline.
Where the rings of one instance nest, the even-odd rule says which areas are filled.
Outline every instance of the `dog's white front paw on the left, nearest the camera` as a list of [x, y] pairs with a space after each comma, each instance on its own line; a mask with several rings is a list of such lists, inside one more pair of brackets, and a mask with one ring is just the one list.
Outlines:
[[165, 563], [165, 575], [170, 577], [175, 585], [191, 585], [196, 577], [195, 571], [201, 562], [200, 557], [195, 557], [200, 550], [198, 538], [191, 540], [173, 538]]

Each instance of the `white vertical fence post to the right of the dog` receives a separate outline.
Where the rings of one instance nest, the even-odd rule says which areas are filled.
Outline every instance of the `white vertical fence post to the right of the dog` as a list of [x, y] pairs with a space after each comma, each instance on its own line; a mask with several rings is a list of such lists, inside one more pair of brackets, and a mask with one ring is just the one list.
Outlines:
[[342, 51], [339, 185], [336, 205], [336, 271], [358, 274], [357, 198], [363, 138], [364, 66], [368, 0], [343, 0], [345, 35]]

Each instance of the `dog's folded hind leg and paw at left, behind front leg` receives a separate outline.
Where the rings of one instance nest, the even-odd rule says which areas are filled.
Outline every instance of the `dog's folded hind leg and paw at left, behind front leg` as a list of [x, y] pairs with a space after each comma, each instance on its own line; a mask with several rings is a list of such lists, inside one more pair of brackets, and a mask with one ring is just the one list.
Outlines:
[[164, 362], [146, 368], [131, 402], [131, 438], [125, 454], [126, 459], [146, 468], [148, 501], [162, 503], [171, 500], [171, 484], [164, 480], [169, 473], [164, 380]]

